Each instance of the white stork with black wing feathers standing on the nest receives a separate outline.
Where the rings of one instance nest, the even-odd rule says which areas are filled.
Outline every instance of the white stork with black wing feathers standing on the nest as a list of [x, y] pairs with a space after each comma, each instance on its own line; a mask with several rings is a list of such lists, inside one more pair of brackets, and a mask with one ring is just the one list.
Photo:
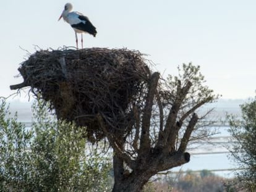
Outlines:
[[64, 7], [61, 17], [59, 17], [59, 20], [61, 20], [61, 18], [63, 17], [64, 21], [69, 23], [71, 27], [75, 30], [75, 43], [77, 43], [77, 33], [81, 33], [81, 43], [83, 48], [83, 33], [89, 33], [90, 35], [96, 36], [97, 31], [88, 19], [88, 17], [81, 14], [80, 12], [70, 12], [72, 8], [72, 4], [68, 2]]

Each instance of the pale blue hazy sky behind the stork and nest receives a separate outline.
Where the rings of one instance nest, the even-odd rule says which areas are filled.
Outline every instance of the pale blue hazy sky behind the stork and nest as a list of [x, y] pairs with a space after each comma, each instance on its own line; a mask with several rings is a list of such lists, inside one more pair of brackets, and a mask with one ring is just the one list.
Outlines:
[[[2, 1], [0, 12], [0, 96], [20, 83], [26, 52], [75, 46], [69, 24], [58, 22], [68, 1]], [[256, 90], [256, 1], [69, 1], [98, 30], [84, 35], [84, 46], [137, 49], [149, 54], [164, 75], [177, 65], [200, 65], [215, 93], [248, 98]], [[80, 36], [79, 36], [80, 37]]]

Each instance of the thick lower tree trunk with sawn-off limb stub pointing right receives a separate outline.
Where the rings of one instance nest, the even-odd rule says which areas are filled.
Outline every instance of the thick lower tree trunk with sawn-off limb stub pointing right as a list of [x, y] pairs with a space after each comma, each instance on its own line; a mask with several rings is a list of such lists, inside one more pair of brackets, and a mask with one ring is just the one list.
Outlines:
[[129, 173], [124, 170], [123, 161], [114, 156], [114, 188], [113, 192], [139, 192], [143, 186], [156, 173], [186, 164], [190, 160], [188, 152], [175, 152], [173, 154], [148, 154], [146, 162], [137, 162], [139, 167]]

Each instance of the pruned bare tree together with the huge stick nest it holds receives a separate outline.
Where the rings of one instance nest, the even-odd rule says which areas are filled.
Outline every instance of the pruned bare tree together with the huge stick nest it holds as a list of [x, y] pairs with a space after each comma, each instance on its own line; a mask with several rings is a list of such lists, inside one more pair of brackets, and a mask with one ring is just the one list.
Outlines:
[[[177, 77], [169, 75], [168, 80], [163, 80], [160, 73], [151, 73], [148, 70], [139, 52], [103, 49], [87, 51], [77, 51], [82, 64], [77, 63], [78, 57], [65, 62], [67, 67], [60, 80], [56, 80], [54, 72], [59, 72], [61, 65], [55, 57], [49, 59], [48, 54], [53, 54], [52, 52], [43, 52], [43, 59], [39, 55], [34, 56], [29, 64], [23, 64], [19, 69], [25, 77], [25, 83], [11, 88], [30, 85], [35, 94], [36, 88], [38, 92], [42, 92], [43, 99], [52, 102], [59, 117], [69, 120], [81, 117], [82, 125], [87, 126], [88, 132], [92, 132], [89, 139], [97, 136], [100, 139], [108, 138], [114, 152], [113, 191], [141, 191], [143, 185], [156, 173], [189, 162], [190, 154], [186, 152], [189, 141], [208, 136], [206, 130], [196, 127], [205, 117], [198, 117], [197, 110], [218, 98], [204, 85], [200, 67], [183, 64], [178, 68]], [[70, 51], [65, 52], [66, 60], [71, 57], [69, 54]], [[81, 56], [82, 54], [86, 56]], [[61, 57], [59, 52], [56, 55]], [[85, 59], [82, 60], [81, 57]], [[111, 58], [106, 59], [107, 57]], [[45, 65], [39, 64], [42, 61], [47, 62]], [[92, 61], [93, 65], [90, 64]], [[140, 65], [137, 65], [138, 62]], [[105, 68], [102, 68], [102, 63]], [[40, 69], [36, 69], [38, 65]], [[98, 68], [95, 65], [98, 65]], [[72, 77], [69, 74], [70, 66], [73, 66]], [[81, 72], [81, 66], [87, 69]], [[37, 73], [45, 71], [44, 68], [47, 67], [51, 67], [53, 71], [51, 78], [49, 73]], [[28, 72], [32, 69], [36, 71], [36, 80], [31, 78], [33, 72]], [[56, 92], [56, 85], [62, 90]], [[65, 102], [64, 96], [67, 96], [69, 102]], [[81, 125], [81, 121], [77, 120], [77, 123]]]

